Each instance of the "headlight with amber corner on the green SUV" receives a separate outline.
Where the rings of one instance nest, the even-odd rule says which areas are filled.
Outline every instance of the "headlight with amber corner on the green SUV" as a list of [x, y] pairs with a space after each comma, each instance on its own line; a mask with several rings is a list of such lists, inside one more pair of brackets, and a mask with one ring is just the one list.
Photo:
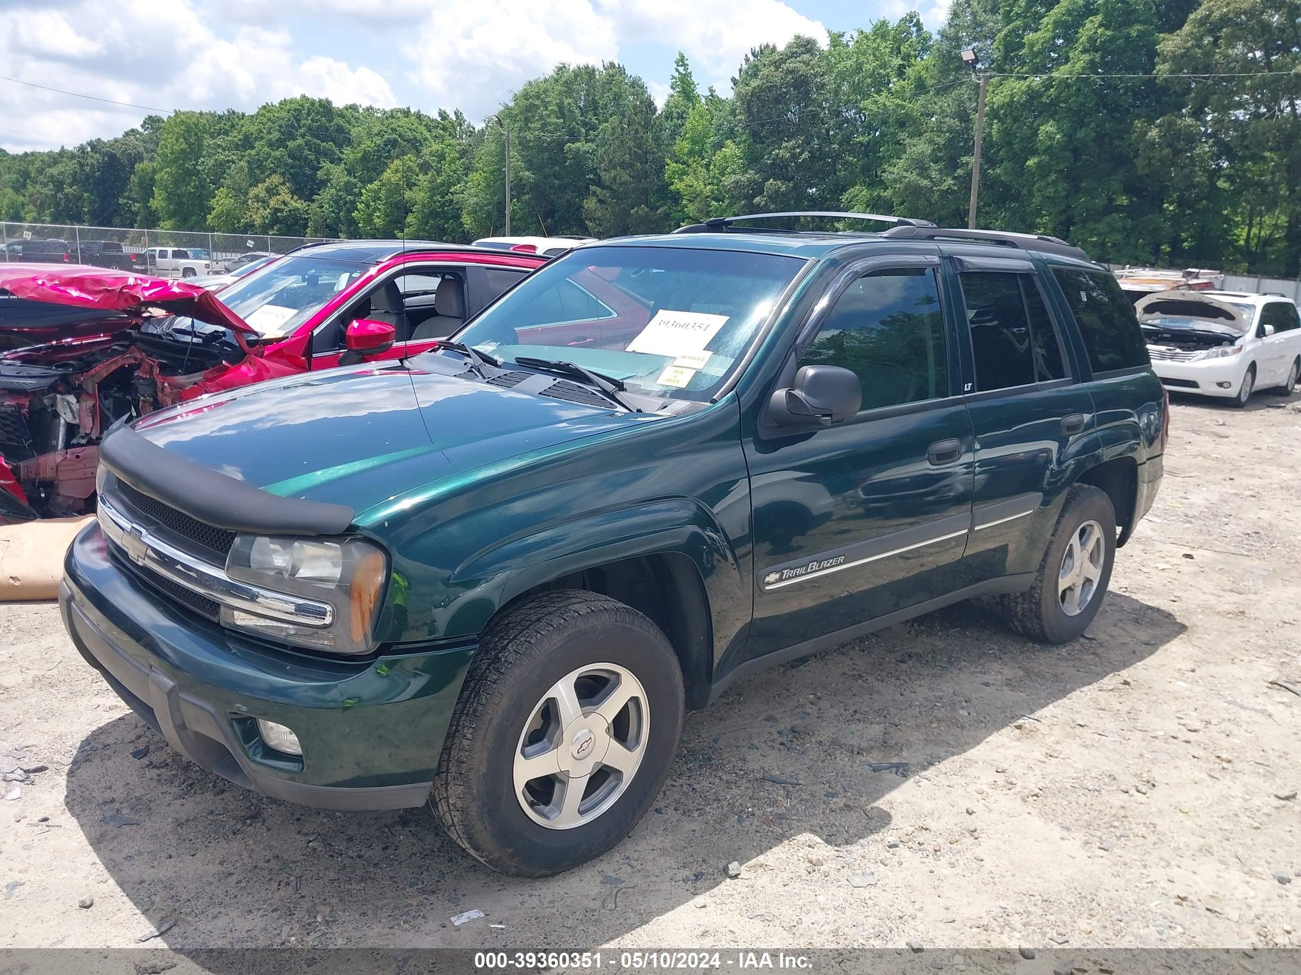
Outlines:
[[226, 575], [327, 603], [332, 612], [320, 623], [291, 621], [284, 612], [262, 616], [224, 606], [225, 627], [336, 654], [366, 654], [375, 647], [375, 623], [382, 606], [389, 560], [373, 542], [242, 534], [230, 547]]

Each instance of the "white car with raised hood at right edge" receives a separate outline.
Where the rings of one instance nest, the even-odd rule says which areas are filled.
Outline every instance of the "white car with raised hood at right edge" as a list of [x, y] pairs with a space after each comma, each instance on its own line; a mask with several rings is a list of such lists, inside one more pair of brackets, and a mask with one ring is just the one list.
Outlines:
[[1280, 295], [1159, 291], [1134, 306], [1151, 368], [1166, 389], [1232, 399], [1292, 395], [1301, 374], [1301, 312]]

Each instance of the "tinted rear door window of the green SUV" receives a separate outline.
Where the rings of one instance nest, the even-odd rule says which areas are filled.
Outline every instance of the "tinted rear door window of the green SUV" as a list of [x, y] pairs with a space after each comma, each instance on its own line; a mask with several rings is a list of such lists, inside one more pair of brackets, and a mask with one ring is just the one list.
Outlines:
[[980, 270], [960, 278], [980, 393], [1066, 378], [1062, 347], [1034, 278]]

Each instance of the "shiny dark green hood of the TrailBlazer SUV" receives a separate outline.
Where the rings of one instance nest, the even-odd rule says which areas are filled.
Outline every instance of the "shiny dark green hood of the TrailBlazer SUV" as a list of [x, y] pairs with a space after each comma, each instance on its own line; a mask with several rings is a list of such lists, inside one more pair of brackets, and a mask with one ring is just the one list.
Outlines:
[[134, 429], [272, 494], [360, 514], [463, 471], [648, 421], [393, 363], [203, 396]]

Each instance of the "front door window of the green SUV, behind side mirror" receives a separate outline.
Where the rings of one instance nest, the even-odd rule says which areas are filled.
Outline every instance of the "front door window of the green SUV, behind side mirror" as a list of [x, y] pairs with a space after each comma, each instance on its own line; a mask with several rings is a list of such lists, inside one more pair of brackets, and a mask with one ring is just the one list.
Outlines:
[[863, 410], [948, 395], [945, 321], [935, 273], [882, 270], [837, 299], [800, 365], [840, 365], [863, 384]]

